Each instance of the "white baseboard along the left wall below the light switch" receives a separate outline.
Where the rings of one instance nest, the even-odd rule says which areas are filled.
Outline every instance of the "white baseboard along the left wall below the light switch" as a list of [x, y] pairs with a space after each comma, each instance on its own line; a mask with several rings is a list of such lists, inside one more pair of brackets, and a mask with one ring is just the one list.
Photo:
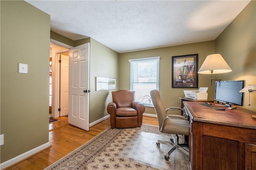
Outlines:
[[7, 161], [3, 162], [2, 164], [0, 164], [0, 169], [2, 170], [4, 168], [7, 168], [8, 166], [16, 164], [17, 162], [19, 162], [21, 160], [24, 160], [24, 159], [32, 156], [33, 154], [36, 154], [36, 153], [40, 152], [41, 150], [44, 150], [44, 149], [46, 149], [46, 148], [48, 148], [50, 146], [51, 146], [50, 142], [48, 142], [48, 143], [45, 143], [44, 145], [41, 145], [41, 146], [36, 147], [36, 148], [34, 148], [32, 150], [29, 150], [28, 152], [20, 154], [19, 156], [16, 156], [16, 157], [14, 157], [14, 158], [12, 158], [10, 160], [7, 160]]

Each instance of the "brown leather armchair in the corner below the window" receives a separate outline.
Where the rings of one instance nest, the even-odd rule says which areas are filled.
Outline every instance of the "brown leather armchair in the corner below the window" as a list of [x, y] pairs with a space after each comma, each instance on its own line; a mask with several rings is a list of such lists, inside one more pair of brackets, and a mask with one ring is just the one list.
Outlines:
[[113, 102], [107, 107], [112, 129], [141, 127], [145, 106], [140, 102], [134, 102], [134, 95], [135, 92], [129, 90], [112, 92]]

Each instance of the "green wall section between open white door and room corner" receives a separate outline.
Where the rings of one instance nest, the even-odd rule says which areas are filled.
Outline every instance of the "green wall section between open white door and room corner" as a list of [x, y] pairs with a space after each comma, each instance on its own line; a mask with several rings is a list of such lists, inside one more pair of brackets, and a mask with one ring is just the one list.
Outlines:
[[[91, 38], [90, 41], [90, 123], [108, 115], [107, 105], [112, 102], [112, 90], [96, 91], [96, 77], [117, 78], [119, 53]], [[115, 90], [113, 90], [115, 91]]]

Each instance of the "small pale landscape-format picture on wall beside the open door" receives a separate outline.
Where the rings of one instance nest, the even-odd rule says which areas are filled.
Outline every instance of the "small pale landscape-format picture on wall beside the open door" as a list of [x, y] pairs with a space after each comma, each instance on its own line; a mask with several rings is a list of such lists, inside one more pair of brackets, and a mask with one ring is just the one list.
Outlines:
[[96, 77], [96, 91], [116, 89], [116, 78]]

